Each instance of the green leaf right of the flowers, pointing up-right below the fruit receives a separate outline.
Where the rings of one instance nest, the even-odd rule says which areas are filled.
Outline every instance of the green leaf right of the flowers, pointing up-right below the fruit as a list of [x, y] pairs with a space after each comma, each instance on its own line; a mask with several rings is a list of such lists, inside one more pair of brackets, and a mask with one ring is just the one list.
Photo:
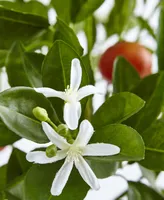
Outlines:
[[107, 99], [92, 118], [95, 129], [108, 124], [120, 123], [137, 113], [144, 106], [144, 101], [129, 92], [122, 92]]

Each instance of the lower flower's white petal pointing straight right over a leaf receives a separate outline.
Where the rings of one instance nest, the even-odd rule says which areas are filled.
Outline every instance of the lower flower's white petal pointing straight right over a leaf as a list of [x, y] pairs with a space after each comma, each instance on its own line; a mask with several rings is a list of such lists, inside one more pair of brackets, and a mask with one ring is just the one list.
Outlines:
[[88, 144], [83, 149], [83, 156], [111, 156], [118, 154], [120, 148], [113, 144]]

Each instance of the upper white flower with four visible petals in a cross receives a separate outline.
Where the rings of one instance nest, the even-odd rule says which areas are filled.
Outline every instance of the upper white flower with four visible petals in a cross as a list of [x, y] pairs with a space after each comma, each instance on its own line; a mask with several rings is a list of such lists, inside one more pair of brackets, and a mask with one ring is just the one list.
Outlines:
[[80, 62], [77, 58], [72, 60], [70, 86], [67, 86], [65, 92], [56, 91], [51, 88], [35, 88], [36, 92], [44, 94], [46, 97], [58, 97], [66, 103], [64, 105], [64, 121], [71, 130], [78, 126], [78, 120], [81, 116], [80, 100], [86, 96], [96, 93], [93, 85], [87, 85], [79, 89], [82, 78]]

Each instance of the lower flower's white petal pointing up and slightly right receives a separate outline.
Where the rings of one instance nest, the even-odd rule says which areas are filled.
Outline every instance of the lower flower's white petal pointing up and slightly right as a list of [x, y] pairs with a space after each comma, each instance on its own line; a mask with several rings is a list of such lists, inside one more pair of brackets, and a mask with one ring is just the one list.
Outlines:
[[86, 146], [93, 135], [93, 126], [88, 120], [83, 120], [80, 124], [79, 133], [74, 142], [77, 146]]

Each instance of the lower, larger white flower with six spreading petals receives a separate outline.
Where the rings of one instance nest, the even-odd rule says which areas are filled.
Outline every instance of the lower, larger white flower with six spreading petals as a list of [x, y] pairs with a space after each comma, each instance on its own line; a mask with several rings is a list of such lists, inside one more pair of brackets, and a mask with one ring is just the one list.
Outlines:
[[62, 193], [72, 171], [73, 164], [75, 164], [84, 181], [92, 189], [98, 190], [100, 188], [98, 179], [83, 156], [115, 155], [120, 152], [120, 148], [105, 143], [88, 144], [94, 132], [88, 120], [81, 122], [79, 133], [73, 144], [69, 144], [66, 139], [56, 133], [48, 123], [42, 122], [42, 127], [49, 140], [61, 150], [58, 150], [56, 156], [52, 158], [48, 158], [43, 151], [30, 152], [27, 154], [27, 160], [39, 164], [46, 164], [66, 158], [52, 183], [51, 194], [58, 196]]

